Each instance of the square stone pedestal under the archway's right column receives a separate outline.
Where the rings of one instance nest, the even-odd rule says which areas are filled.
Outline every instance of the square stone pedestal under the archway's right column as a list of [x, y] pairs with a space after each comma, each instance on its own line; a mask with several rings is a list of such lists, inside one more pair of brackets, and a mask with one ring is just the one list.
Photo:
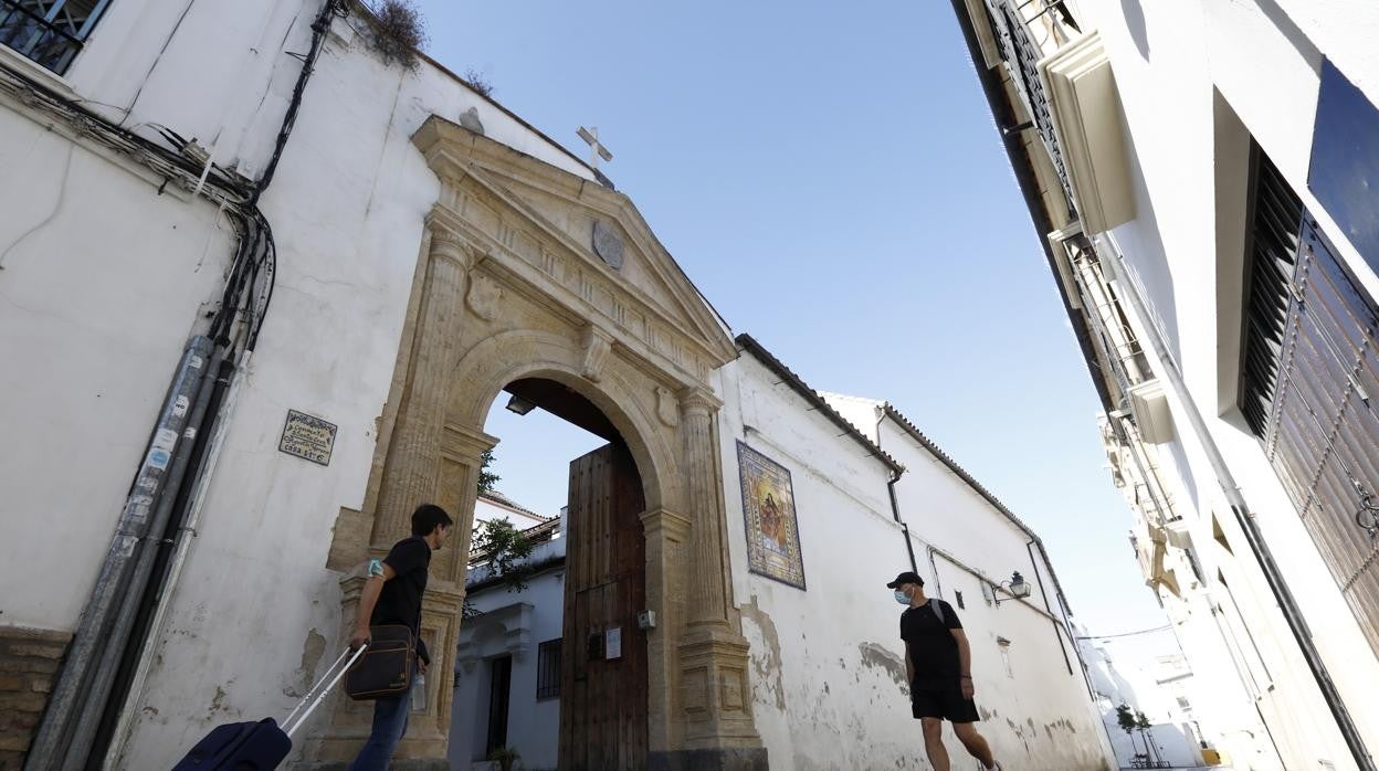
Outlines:
[[727, 623], [692, 625], [685, 633], [680, 643], [680, 705], [687, 752], [761, 749], [747, 663], [747, 640]]

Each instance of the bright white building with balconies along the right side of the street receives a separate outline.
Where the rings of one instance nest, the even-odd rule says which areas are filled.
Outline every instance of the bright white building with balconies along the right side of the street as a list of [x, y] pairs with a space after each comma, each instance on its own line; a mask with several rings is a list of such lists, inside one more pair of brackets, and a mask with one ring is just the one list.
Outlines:
[[953, 3], [1237, 768], [1375, 768], [1368, 3]]

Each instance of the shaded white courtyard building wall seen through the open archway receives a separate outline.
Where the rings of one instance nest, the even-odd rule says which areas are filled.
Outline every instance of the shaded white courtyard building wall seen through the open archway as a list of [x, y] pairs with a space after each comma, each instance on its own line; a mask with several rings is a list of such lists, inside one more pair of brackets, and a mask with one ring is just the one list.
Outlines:
[[[564, 541], [542, 543], [532, 552], [531, 560], [541, 563], [557, 552], [564, 554]], [[494, 586], [469, 596], [469, 603], [480, 612], [499, 610], [513, 603], [534, 605], [531, 648], [521, 659], [513, 658], [507, 712], [507, 745], [521, 753], [523, 765], [531, 771], [554, 770], [560, 748], [560, 699], [536, 698], [536, 648], [541, 643], [556, 640], [564, 633], [564, 601], [563, 568], [536, 575], [521, 592]], [[484, 636], [483, 617], [465, 623], [474, 626], [476, 636]], [[461, 669], [455, 677], [450, 731], [450, 767], [454, 771], [467, 771], [473, 761], [484, 760], [488, 737], [490, 665], [491, 659], [485, 659], [472, 669]]]

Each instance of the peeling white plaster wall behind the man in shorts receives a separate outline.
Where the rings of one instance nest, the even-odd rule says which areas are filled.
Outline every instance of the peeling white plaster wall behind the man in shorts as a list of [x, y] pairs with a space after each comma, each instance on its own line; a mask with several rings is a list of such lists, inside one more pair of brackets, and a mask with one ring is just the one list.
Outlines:
[[[840, 437], [837, 425], [752, 356], [743, 354], [721, 377], [734, 593], [752, 644], [753, 709], [772, 770], [929, 768], [920, 724], [910, 716], [902, 608], [885, 588], [909, 568], [905, 535], [887, 497], [888, 469], [851, 437]], [[874, 432], [874, 417], [870, 426], [855, 417], [863, 432]], [[749, 571], [735, 439], [790, 470], [807, 590]], [[909, 458], [902, 463], [917, 465]], [[946, 549], [967, 557], [990, 553], [993, 571], [1018, 556], [1015, 567], [1027, 572], [1022, 534], [983, 509], [961, 480], [921, 469], [914, 484], [945, 501], [945, 519], [964, 523]], [[934, 538], [924, 516], [906, 516], [918, 537]], [[921, 556], [924, 546], [916, 541]], [[953, 585], [968, 581], [940, 571]], [[927, 565], [921, 574], [928, 575]], [[972, 639], [978, 705], [986, 716], [979, 727], [1005, 767], [1106, 768], [1109, 748], [1103, 750], [1083, 676], [1076, 659], [1074, 674], [1067, 673], [1051, 622], [1027, 608], [986, 608], [975, 579], [964, 594], [968, 610], [958, 612]], [[1014, 679], [1005, 676], [996, 634], [1014, 641]], [[946, 738], [954, 767], [965, 767], [950, 730]]]

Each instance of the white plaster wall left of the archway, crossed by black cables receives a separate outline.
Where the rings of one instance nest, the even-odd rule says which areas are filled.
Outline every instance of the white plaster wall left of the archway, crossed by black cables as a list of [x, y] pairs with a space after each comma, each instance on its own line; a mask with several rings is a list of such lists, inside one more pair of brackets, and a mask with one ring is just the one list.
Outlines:
[[[291, 95], [313, 0], [112, 3], [54, 87], [132, 130], [160, 123], [258, 175]], [[422, 63], [385, 66], [338, 19], [261, 206], [277, 290], [203, 519], [156, 639], [120, 767], [171, 765], [225, 720], [285, 714], [341, 650], [342, 508], [360, 509], [389, 394], [423, 218], [439, 192], [410, 142], [474, 109], [490, 138], [589, 178], [571, 156]], [[8, 57], [0, 51], [0, 57]], [[157, 194], [132, 164], [0, 102], [0, 625], [70, 632], [87, 601], [188, 335], [218, 299], [232, 230]], [[339, 426], [328, 466], [277, 451], [288, 408]], [[360, 534], [367, 538], [367, 532]], [[324, 714], [324, 712], [321, 713]]]

